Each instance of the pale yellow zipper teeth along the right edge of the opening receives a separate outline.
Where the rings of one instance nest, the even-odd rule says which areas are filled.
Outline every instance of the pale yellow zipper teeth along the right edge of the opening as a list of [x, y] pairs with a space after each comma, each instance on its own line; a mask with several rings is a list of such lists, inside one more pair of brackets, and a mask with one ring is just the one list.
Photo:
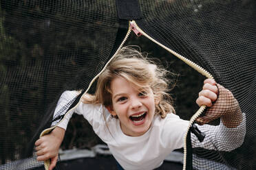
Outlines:
[[[160, 47], [166, 49], [167, 51], [169, 51], [170, 53], [172, 53], [174, 56], [180, 58], [180, 60], [182, 60], [183, 62], [185, 62], [186, 64], [188, 64], [189, 66], [191, 66], [193, 69], [195, 69], [196, 71], [198, 71], [199, 73], [201, 73], [202, 75], [213, 79], [213, 75], [211, 75], [211, 73], [209, 73], [208, 71], [206, 71], [205, 69], [202, 68], [202, 66], [199, 66], [198, 64], [195, 64], [195, 62], [192, 62], [191, 60], [185, 58], [184, 56], [180, 55], [179, 53], [169, 49], [168, 47], [166, 47], [165, 45], [162, 45], [160, 42], [158, 42], [157, 40], [151, 38], [151, 36], [149, 36], [147, 33], [143, 32], [142, 29], [140, 29], [140, 27], [138, 27], [137, 23], [135, 21], [130, 21], [131, 24], [134, 24], [136, 26], [136, 29], [138, 29], [138, 31], [144, 35], [145, 37], [149, 38], [149, 40], [155, 42], [157, 45], [160, 45]], [[184, 135], [184, 157], [183, 157], [183, 170], [186, 169], [186, 136], [189, 133], [189, 128], [191, 127], [191, 125], [193, 124], [193, 122], [195, 121], [195, 119], [197, 119], [200, 114], [202, 114], [202, 112], [204, 111], [204, 109], [206, 108], [206, 106], [201, 106], [199, 108], [199, 110], [197, 112], [195, 112], [195, 114], [193, 114], [193, 116], [191, 117], [191, 119], [189, 120], [189, 126], [187, 127], [186, 133]]]

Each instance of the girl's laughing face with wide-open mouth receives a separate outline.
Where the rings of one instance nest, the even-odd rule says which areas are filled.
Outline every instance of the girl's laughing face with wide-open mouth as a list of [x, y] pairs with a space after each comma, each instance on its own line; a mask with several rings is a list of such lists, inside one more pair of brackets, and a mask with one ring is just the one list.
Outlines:
[[145, 134], [155, 114], [151, 88], [138, 89], [122, 77], [111, 82], [112, 106], [107, 109], [118, 116], [122, 132], [128, 136]]

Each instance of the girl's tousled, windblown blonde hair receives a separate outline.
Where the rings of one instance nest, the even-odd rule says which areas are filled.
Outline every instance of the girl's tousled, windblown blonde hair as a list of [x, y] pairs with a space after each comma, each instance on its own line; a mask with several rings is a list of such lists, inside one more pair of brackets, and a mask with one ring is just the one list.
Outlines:
[[123, 77], [139, 88], [150, 87], [156, 103], [155, 114], [164, 118], [167, 113], [175, 113], [171, 105], [172, 98], [168, 93], [167, 73], [169, 71], [156, 66], [152, 60], [142, 56], [140, 51], [131, 47], [123, 47], [98, 77], [95, 95], [85, 95], [83, 102], [103, 104], [105, 107], [111, 106], [111, 81], [115, 77]]

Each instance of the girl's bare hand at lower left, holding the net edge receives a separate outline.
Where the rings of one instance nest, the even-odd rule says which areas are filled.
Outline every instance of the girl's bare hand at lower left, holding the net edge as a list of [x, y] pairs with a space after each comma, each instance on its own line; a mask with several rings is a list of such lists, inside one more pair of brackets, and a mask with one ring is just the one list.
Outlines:
[[44, 161], [51, 159], [49, 170], [56, 166], [58, 160], [58, 149], [61, 146], [65, 135], [65, 130], [61, 127], [55, 127], [50, 134], [46, 134], [36, 141], [37, 160]]

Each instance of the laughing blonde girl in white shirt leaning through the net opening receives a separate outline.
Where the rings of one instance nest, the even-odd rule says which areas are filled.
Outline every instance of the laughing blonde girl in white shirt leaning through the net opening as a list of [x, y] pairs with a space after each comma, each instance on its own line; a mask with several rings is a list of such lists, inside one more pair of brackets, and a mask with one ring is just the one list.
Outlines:
[[[98, 78], [95, 95], [83, 95], [83, 102], [72, 111], [83, 114], [123, 169], [156, 169], [173, 149], [183, 147], [189, 121], [175, 115], [167, 93], [166, 73], [166, 70], [142, 57], [140, 52], [122, 48]], [[210, 110], [200, 117], [200, 124], [218, 117], [221, 123], [199, 126], [206, 138], [200, 143], [192, 134], [191, 143], [193, 147], [230, 151], [243, 143], [244, 116], [232, 93], [222, 86], [218, 87], [231, 97], [232, 102], [226, 105], [225, 112]], [[55, 112], [76, 95], [76, 91], [65, 91]], [[226, 96], [218, 91], [214, 80], [207, 79], [196, 102], [198, 106], [208, 107], [215, 102], [213, 107], [217, 108], [220, 106], [218, 95], [218, 100], [222, 98], [223, 103]], [[229, 111], [231, 108], [232, 112]], [[52, 160], [50, 170], [56, 165], [58, 149], [70, 117], [72, 114], [67, 114], [50, 134], [35, 143], [37, 160]], [[237, 135], [233, 136], [234, 133]], [[228, 145], [217, 143], [215, 138], [222, 138]]]

